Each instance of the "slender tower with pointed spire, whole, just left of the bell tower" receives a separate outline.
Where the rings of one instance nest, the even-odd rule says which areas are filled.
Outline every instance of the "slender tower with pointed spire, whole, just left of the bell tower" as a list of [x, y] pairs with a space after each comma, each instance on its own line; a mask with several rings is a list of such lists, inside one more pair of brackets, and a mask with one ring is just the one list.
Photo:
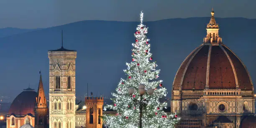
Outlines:
[[46, 98], [44, 94], [44, 86], [42, 82], [41, 71], [40, 80], [38, 85], [37, 97], [36, 97], [36, 105], [34, 108], [35, 111], [35, 128], [46, 128], [48, 126], [47, 115], [49, 113]]

